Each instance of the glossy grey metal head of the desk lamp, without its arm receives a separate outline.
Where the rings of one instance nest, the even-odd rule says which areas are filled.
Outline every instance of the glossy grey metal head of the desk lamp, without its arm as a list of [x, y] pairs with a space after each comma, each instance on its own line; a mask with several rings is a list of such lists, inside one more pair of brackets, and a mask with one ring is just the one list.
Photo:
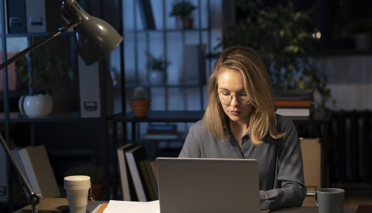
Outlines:
[[101, 60], [123, 41], [114, 27], [89, 15], [76, 0], [64, 0], [61, 9], [62, 18], [67, 24], [81, 19], [73, 31], [77, 52], [86, 65]]

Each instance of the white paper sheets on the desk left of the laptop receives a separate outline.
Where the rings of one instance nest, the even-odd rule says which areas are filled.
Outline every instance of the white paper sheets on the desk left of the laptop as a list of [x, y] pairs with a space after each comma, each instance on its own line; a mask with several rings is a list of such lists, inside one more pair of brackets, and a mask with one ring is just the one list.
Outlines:
[[160, 207], [159, 201], [132, 202], [111, 200], [103, 213], [160, 213]]

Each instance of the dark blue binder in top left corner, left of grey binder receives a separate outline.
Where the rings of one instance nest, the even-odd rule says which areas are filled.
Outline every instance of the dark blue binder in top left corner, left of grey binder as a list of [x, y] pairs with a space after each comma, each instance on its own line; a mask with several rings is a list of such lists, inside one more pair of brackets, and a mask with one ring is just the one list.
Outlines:
[[26, 0], [7, 0], [8, 33], [26, 33]]

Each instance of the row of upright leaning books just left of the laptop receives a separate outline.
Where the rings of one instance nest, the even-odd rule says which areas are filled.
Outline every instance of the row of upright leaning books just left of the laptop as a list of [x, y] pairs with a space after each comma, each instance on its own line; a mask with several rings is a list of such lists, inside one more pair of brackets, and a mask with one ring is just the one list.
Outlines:
[[145, 147], [129, 143], [117, 151], [123, 200], [159, 200], [156, 161], [147, 158]]

